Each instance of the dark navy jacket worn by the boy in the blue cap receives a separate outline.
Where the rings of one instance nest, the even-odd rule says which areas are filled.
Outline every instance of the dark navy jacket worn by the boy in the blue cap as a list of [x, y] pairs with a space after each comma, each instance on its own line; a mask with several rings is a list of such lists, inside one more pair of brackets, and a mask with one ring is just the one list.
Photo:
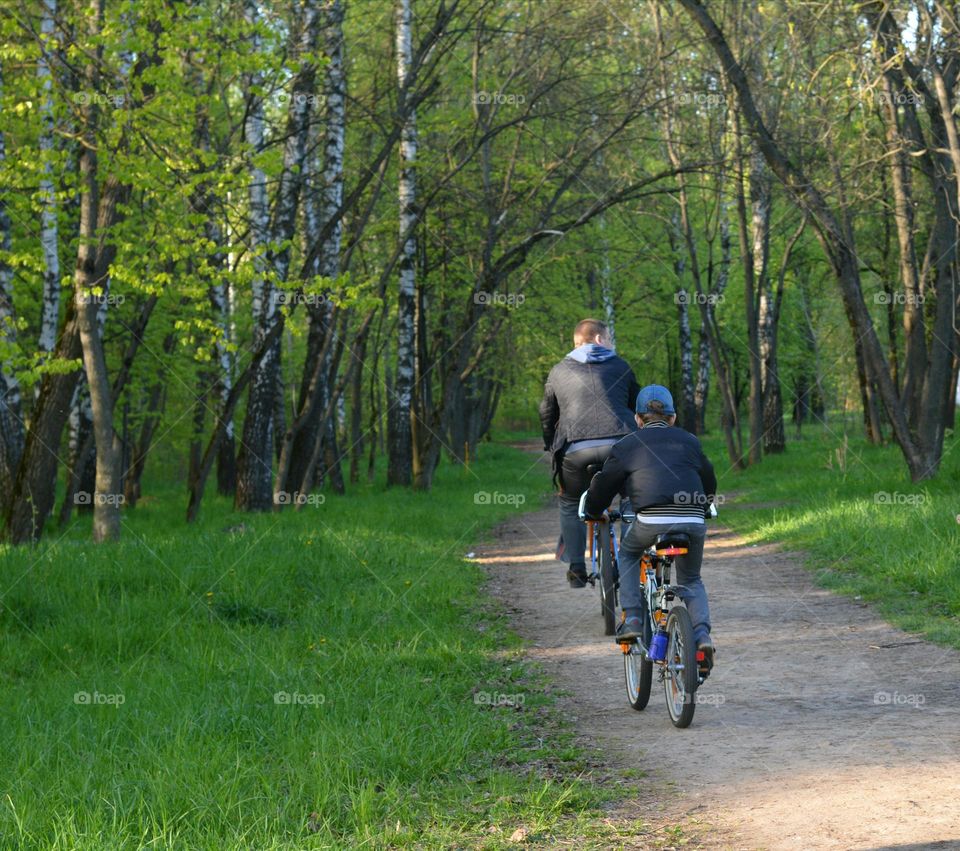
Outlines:
[[618, 441], [590, 482], [585, 509], [599, 517], [626, 484], [633, 508], [706, 505], [717, 491], [700, 441], [682, 428], [648, 425]]

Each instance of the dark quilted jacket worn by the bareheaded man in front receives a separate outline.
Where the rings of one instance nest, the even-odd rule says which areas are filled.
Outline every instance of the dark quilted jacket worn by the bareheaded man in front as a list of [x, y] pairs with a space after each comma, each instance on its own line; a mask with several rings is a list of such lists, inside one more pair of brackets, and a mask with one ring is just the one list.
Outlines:
[[[596, 347], [600, 349], [600, 347]], [[543, 448], [554, 455], [574, 440], [636, 431], [640, 387], [627, 362], [608, 350], [585, 363], [567, 356], [547, 377], [540, 403]]]

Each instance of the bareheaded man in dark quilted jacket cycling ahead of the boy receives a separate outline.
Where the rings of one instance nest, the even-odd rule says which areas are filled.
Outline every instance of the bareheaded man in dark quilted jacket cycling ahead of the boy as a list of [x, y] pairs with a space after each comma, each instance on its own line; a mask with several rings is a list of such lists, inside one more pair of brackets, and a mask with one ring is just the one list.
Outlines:
[[547, 377], [540, 424], [543, 448], [553, 453], [554, 477], [560, 485], [558, 554], [569, 564], [570, 585], [583, 588], [587, 538], [577, 509], [580, 494], [590, 482], [587, 467], [602, 464], [613, 444], [636, 430], [633, 409], [640, 387], [633, 370], [610, 347], [602, 322], [579, 322], [573, 345], [573, 351]]

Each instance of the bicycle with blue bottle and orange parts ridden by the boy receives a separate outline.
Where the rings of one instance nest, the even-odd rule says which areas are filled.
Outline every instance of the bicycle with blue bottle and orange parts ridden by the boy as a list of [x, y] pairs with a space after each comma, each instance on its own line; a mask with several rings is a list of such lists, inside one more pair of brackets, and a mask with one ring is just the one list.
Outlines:
[[[713, 505], [709, 516], [717, 516]], [[688, 535], [672, 532], [658, 535], [653, 546], [644, 550], [640, 559], [640, 588], [646, 608], [643, 635], [620, 644], [630, 705], [637, 711], [646, 707], [656, 667], [670, 720], [681, 728], [693, 721], [697, 689], [709, 675], [701, 665], [703, 652], [696, 648], [690, 613], [686, 606], [677, 605], [685, 589], [670, 582], [674, 558], [684, 555], [689, 545]]]

